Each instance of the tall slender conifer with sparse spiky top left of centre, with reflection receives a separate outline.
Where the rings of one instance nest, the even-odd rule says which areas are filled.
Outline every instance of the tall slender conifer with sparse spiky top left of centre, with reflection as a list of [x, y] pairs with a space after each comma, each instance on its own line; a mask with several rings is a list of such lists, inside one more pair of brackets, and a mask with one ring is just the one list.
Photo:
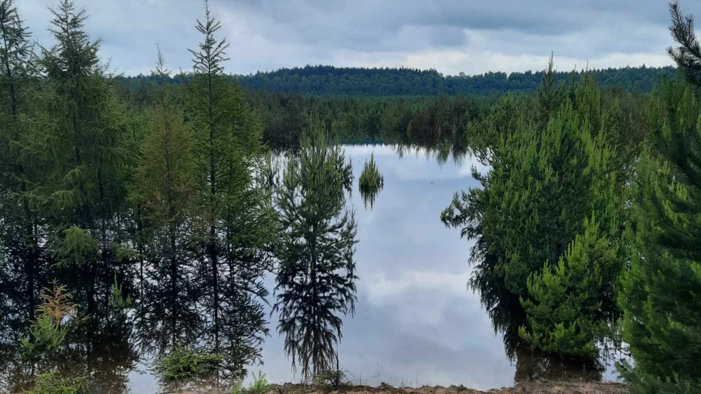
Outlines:
[[235, 375], [260, 359], [267, 334], [261, 300], [268, 294], [262, 278], [272, 266], [275, 212], [271, 193], [256, 177], [262, 162], [262, 127], [236, 81], [224, 75], [225, 39], [205, 1], [203, 35], [193, 55], [193, 81], [186, 92], [189, 124], [194, 131], [196, 172], [194, 204], [201, 229], [193, 240], [201, 246], [198, 278], [205, 320], [205, 341]]

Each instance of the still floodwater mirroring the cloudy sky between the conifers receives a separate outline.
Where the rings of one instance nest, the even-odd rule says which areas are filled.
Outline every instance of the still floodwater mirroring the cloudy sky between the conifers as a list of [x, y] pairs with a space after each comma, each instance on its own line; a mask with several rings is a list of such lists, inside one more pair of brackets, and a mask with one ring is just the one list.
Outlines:
[[[384, 187], [373, 207], [366, 208], [358, 177], [372, 153]], [[352, 158], [355, 176], [348, 205], [358, 221], [359, 280], [355, 315], [343, 319], [341, 369], [353, 382], [372, 386], [462, 384], [488, 390], [512, 385], [519, 377], [517, 362], [505, 352], [503, 334], [495, 332], [479, 294], [468, 289], [471, 243], [440, 220], [456, 191], [479, 186], [472, 178], [472, 166], [485, 168], [470, 156], [442, 162], [423, 149], [398, 152], [386, 145], [348, 146], [346, 156]], [[273, 276], [266, 277], [266, 287], [272, 304]], [[269, 305], [265, 308], [270, 336], [263, 345], [264, 364], [248, 370], [264, 372], [271, 383], [300, 381], [283, 351], [277, 316], [271, 315]], [[65, 362], [90, 364], [88, 369], [103, 380], [104, 393], [158, 392], [149, 357], [129, 347], [134, 335], [119, 331], [114, 338], [104, 337], [102, 354]], [[116, 339], [114, 346], [107, 344], [111, 339]], [[19, 366], [18, 356], [5, 358], [0, 388], [8, 390], [22, 379], [18, 371], [28, 371]], [[604, 379], [615, 379], [613, 368], [607, 369]]]

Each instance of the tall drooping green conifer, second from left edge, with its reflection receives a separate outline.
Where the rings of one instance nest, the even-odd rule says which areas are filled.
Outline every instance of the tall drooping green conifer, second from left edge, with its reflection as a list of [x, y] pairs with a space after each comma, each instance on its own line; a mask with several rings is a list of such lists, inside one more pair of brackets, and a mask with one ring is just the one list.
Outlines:
[[96, 322], [104, 318], [101, 306], [111, 297], [118, 268], [116, 246], [123, 234], [118, 214], [132, 152], [123, 149], [128, 131], [123, 108], [100, 64], [100, 41], [85, 31], [86, 11], [63, 0], [52, 13], [56, 43], [42, 48], [41, 58], [46, 92], [39, 127], [48, 133], [43, 149], [50, 152], [49, 182], [41, 190], [44, 214], [64, 284]]

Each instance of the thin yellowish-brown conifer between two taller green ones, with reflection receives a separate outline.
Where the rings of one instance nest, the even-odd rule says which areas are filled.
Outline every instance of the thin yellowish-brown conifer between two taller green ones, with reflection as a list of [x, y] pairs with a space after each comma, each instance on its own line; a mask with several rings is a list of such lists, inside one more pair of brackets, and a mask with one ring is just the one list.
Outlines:
[[136, 179], [136, 193], [143, 201], [149, 223], [149, 266], [139, 313], [146, 323], [147, 343], [158, 351], [195, 341], [199, 316], [191, 277], [194, 266], [189, 245], [194, 177], [192, 130], [184, 123], [182, 106], [176, 104], [166, 81], [168, 70], [158, 52], [154, 107], [149, 111], [146, 137]]

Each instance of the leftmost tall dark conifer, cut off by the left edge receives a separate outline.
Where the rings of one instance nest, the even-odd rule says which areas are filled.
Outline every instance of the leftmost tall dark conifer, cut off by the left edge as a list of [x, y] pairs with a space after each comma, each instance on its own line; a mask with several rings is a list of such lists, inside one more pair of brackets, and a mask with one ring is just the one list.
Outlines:
[[21, 293], [22, 301], [15, 307], [22, 310], [6, 311], [3, 315], [21, 315], [26, 321], [34, 317], [46, 265], [36, 234], [41, 224], [32, 201], [36, 185], [41, 184], [42, 168], [27, 154], [32, 135], [28, 116], [34, 112], [29, 97], [38, 88], [32, 56], [30, 33], [22, 24], [15, 2], [1, 0], [0, 215], [4, 225], [0, 243], [4, 253], [0, 256], [0, 271], [11, 270], [0, 278], [0, 294]]

